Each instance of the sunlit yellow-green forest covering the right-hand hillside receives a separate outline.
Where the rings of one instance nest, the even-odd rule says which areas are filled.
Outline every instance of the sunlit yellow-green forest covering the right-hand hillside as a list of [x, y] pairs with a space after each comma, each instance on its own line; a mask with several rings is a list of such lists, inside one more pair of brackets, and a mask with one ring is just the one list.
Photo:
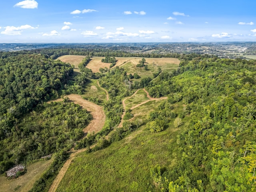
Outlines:
[[[179, 163], [166, 174], [169, 190], [255, 190], [255, 65], [252, 60], [186, 58], [178, 70], [161, 73], [148, 86], [152, 96], [157, 91], [159, 96], [169, 94], [170, 103], [184, 104], [173, 124], [182, 129], [175, 153]], [[190, 121], [184, 122], [187, 113]], [[150, 114], [150, 120], [157, 116]], [[246, 148], [251, 149], [248, 154]]]

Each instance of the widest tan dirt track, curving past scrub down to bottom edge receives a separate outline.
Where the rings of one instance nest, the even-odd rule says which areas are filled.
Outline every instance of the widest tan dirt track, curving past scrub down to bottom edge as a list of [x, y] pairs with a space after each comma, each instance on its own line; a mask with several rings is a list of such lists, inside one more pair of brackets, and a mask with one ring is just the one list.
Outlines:
[[[104, 123], [106, 120], [106, 116], [103, 111], [103, 108], [101, 106], [98, 106], [98, 105], [90, 102], [90, 101], [84, 100], [80, 95], [70, 94], [70, 95], [67, 95], [67, 97], [70, 99], [70, 102], [79, 104], [83, 108], [86, 108], [87, 111], [90, 112], [90, 114], [92, 114], [93, 119], [90, 121], [88, 126], [86, 126], [86, 128], [83, 129], [84, 137], [89, 132], [94, 132], [94, 133], [99, 132], [102, 129], [102, 127], [104, 126]], [[62, 101], [62, 99], [57, 99], [54, 101]], [[91, 147], [93, 147], [93, 146], [91, 146]], [[60, 181], [64, 177], [66, 171], [68, 170], [70, 163], [72, 162], [72, 160], [74, 159], [76, 154], [78, 154], [80, 152], [84, 152], [84, 151], [86, 151], [86, 148], [76, 150], [76, 151], [75, 150], [71, 151], [70, 157], [68, 158], [68, 160], [66, 160], [66, 162], [60, 169], [60, 172], [54, 179], [48, 192], [55, 192], [57, 190], [58, 185], [60, 184]]]

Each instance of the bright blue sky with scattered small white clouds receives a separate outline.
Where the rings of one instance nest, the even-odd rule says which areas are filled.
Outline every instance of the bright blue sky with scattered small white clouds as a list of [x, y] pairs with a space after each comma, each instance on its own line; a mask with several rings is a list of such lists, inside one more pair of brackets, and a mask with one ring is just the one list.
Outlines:
[[0, 43], [256, 41], [254, 0], [1, 0]]

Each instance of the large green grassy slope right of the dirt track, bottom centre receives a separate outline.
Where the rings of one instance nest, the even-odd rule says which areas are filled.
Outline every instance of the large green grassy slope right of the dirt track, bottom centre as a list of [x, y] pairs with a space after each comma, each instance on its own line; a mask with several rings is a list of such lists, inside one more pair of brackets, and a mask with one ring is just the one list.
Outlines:
[[[152, 100], [134, 109], [135, 118], [145, 122], [150, 111], [157, 110], [162, 100]], [[150, 108], [149, 108], [150, 106]], [[173, 107], [182, 110], [182, 103]], [[182, 121], [185, 123], [189, 117]], [[175, 156], [176, 135], [171, 120], [168, 128], [150, 133], [145, 125], [109, 147], [78, 154], [70, 164], [57, 192], [66, 191], [160, 191], [150, 176], [150, 168], [160, 165], [166, 170], [178, 163]]]

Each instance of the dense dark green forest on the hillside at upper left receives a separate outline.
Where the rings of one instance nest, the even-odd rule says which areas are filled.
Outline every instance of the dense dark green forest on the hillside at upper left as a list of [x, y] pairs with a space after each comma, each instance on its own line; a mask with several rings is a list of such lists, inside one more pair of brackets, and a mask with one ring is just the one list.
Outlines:
[[[0, 58], [0, 137], [12, 134], [22, 114], [58, 97], [73, 74], [69, 64], [42, 55], [4, 53]], [[1, 53], [0, 53], [1, 56]]]

